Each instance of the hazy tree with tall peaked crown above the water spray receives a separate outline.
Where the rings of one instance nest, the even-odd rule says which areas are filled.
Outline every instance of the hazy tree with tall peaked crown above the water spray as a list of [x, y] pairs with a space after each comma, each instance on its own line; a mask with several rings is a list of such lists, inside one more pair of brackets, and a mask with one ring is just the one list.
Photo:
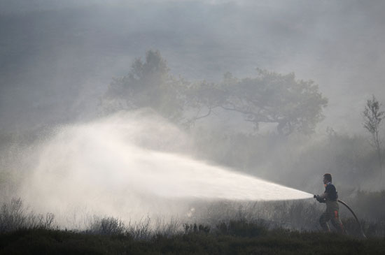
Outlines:
[[102, 99], [104, 110], [152, 108], [178, 122], [183, 117], [183, 80], [169, 73], [167, 61], [158, 50], [146, 52], [146, 61], [135, 59], [130, 72], [115, 78]]

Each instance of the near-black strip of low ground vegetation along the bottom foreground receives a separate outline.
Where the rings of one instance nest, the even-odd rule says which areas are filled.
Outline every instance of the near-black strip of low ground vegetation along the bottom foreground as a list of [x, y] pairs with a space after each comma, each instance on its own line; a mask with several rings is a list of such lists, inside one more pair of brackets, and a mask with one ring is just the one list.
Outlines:
[[172, 237], [96, 235], [42, 228], [0, 235], [0, 254], [383, 254], [381, 238], [358, 240], [325, 233], [268, 230], [258, 224], [232, 222], [219, 231], [205, 228]]

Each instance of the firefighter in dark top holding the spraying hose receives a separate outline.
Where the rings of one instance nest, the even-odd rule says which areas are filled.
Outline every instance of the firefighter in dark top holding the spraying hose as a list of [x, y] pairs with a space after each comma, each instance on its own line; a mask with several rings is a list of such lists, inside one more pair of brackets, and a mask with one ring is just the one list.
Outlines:
[[326, 211], [319, 218], [319, 224], [321, 224], [323, 231], [330, 232], [328, 221], [332, 221], [332, 225], [339, 233], [346, 233], [339, 219], [338, 193], [332, 184], [332, 175], [330, 173], [323, 175], [323, 184], [325, 185], [325, 192], [322, 195], [316, 195], [319, 203], [326, 203]]

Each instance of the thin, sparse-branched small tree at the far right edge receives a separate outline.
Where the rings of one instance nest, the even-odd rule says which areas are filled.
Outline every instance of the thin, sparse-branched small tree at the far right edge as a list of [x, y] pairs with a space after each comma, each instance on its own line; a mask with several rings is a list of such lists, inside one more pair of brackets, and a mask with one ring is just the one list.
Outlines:
[[372, 99], [368, 99], [366, 101], [365, 109], [363, 111], [363, 126], [369, 131], [372, 135], [372, 146], [377, 152], [377, 156], [379, 159], [379, 170], [381, 174], [382, 181], [382, 151], [381, 151], [381, 140], [379, 138], [379, 126], [381, 124], [381, 120], [383, 119], [385, 112], [380, 110], [381, 104], [377, 99], [372, 95]]

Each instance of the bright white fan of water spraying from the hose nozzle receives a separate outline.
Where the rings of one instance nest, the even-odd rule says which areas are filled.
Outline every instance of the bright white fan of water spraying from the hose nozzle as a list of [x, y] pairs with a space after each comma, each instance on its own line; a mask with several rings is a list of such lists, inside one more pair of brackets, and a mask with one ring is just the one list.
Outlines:
[[36, 147], [20, 197], [37, 212], [183, 217], [191, 201], [275, 201], [311, 194], [192, 159], [188, 138], [148, 112], [62, 126]]

